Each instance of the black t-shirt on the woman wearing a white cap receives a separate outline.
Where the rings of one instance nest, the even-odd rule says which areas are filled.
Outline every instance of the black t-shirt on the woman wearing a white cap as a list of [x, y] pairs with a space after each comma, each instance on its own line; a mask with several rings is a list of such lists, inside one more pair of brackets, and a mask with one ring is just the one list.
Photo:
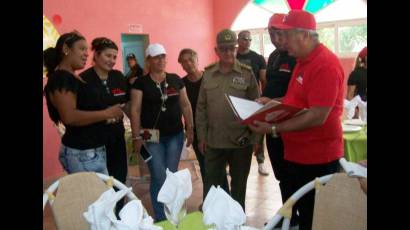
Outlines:
[[[165, 111], [161, 110], [161, 91], [157, 84], [147, 74], [137, 78], [131, 86], [133, 89], [142, 91], [141, 127], [159, 129], [160, 136], [174, 135], [182, 131], [182, 111], [179, 103], [179, 93], [183, 89], [184, 82], [173, 73], [166, 73], [165, 81], [168, 87], [165, 89], [165, 81], [161, 82], [161, 90], [168, 98], [165, 101]], [[156, 126], [155, 121], [158, 117]]]

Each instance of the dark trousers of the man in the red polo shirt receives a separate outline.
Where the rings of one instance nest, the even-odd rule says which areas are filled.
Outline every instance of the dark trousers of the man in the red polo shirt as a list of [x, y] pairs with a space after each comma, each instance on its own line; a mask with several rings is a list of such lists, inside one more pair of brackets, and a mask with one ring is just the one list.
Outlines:
[[[302, 165], [286, 161], [286, 171], [289, 177], [292, 194], [316, 177], [336, 173], [339, 169], [339, 161], [335, 160], [326, 164]], [[313, 207], [315, 202], [315, 190], [308, 192], [296, 202], [294, 209], [299, 212], [299, 229], [311, 230], [313, 219]]]

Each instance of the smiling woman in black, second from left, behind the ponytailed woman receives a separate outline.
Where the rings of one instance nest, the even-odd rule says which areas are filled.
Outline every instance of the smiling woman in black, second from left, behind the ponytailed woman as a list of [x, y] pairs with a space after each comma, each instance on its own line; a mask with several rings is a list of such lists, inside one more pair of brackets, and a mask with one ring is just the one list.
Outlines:
[[[98, 92], [104, 107], [128, 102], [127, 81], [120, 71], [113, 69], [117, 60], [117, 45], [108, 38], [95, 38], [91, 50], [94, 51], [94, 64], [80, 74], [81, 78]], [[108, 173], [122, 183], [125, 183], [128, 172], [124, 133], [122, 119], [104, 125]]]

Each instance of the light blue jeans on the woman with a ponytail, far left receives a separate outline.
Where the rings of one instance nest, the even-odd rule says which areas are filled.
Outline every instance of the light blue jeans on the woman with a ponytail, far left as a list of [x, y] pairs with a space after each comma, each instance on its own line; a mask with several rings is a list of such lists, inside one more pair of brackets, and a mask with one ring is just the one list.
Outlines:
[[108, 175], [105, 146], [93, 149], [74, 149], [61, 144], [60, 163], [68, 174], [98, 172]]

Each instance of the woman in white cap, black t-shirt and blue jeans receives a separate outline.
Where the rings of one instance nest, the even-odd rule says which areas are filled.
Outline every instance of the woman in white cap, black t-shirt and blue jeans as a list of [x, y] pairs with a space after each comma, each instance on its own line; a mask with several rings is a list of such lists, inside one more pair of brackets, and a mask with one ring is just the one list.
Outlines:
[[[146, 52], [149, 73], [135, 80], [131, 86], [131, 128], [134, 148], [151, 154], [147, 162], [151, 174], [151, 202], [155, 221], [165, 219], [164, 205], [157, 201], [158, 192], [164, 184], [168, 168], [172, 172], [178, 169], [178, 163], [184, 144], [185, 121], [187, 146], [193, 140], [193, 118], [191, 104], [184, 83], [176, 74], [166, 73], [166, 52], [162, 45], [151, 44]], [[142, 136], [142, 129], [149, 129]], [[152, 130], [159, 131], [155, 138]], [[144, 142], [144, 149], [141, 146]]]

